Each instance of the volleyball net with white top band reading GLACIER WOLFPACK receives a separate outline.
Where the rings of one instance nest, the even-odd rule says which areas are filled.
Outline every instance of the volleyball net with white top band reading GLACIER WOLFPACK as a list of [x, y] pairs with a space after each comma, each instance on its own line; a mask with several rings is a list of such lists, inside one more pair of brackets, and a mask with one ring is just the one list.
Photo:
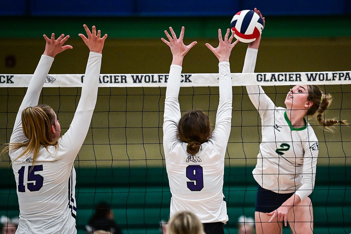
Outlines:
[[[317, 84], [333, 97], [325, 118], [351, 122], [350, 71], [233, 73], [232, 128], [225, 155], [224, 195], [229, 222], [226, 233], [237, 233], [239, 217], [254, 217], [261, 121], [244, 86], [261, 85], [276, 106], [284, 105], [289, 89]], [[31, 75], [0, 75], [0, 144], [9, 142], [15, 116]], [[219, 102], [218, 74], [182, 74], [181, 112], [201, 109], [212, 129]], [[91, 128], [75, 162], [77, 228], [84, 233], [99, 202], [114, 211], [124, 233], [161, 233], [169, 218], [170, 189], [163, 152], [163, 111], [168, 74], [101, 74]], [[39, 103], [58, 115], [61, 133], [77, 108], [82, 74], [48, 75]], [[309, 119], [319, 140], [314, 191], [314, 232], [351, 232], [351, 128], [329, 132]], [[2, 148], [0, 149], [2, 150]], [[19, 215], [16, 186], [8, 157], [1, 158], [0, 215]], [[251, 223], [252, 224], [252, 223]], [[322, 232], [327, 230], [328, 232]]]

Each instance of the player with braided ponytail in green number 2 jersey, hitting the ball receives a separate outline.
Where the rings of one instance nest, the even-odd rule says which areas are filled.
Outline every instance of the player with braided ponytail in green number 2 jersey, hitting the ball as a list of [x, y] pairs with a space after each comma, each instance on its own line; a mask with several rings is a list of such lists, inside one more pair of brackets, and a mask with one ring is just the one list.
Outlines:
[[[255, 8], [261, 17], [262, 14]], [[264, 18], [263, 18], [264, 19]], [[254, 72], [258, 38], [249, 44], [243, 72]], [[314, 187], [318, 140], [305, 119], [317, 112], [320, 125], [347, 124], [324, 120], [331, 96], [316, 85], [296, 85], [286, 95], [286, 108], [276, 107], [260, 86], [247, 86], [247, 93], [262, 121], [262, 141], [253, 176], [258, 183], [256, 233], [280, 234], [287, 222], [294, 234], [313, 233], [313, 210], [308, 197]]]

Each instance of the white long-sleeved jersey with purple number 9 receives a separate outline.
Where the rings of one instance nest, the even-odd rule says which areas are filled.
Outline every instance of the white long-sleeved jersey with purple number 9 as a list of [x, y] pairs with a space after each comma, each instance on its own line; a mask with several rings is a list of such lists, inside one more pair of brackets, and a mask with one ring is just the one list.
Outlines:
[[163, 124], [166, 169], [172, 193], [170, 217], [179, 211], [195, 213], [202, 223], [227, 222], [223, 195], [224, 155], [231, 130], [232, 84], [228, 62], [219, 63], [219, 106], [210, 140], [198, 154], [186, 152], [187, 143], [177, 138], [181, 117], [178, 94], [181, 67], [171, 65]]

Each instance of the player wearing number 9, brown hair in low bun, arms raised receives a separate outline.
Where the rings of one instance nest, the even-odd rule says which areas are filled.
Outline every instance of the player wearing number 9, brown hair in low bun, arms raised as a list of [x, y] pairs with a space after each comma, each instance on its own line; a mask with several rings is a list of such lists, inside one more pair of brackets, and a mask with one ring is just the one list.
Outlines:
[[170, 217], [180, 211], [195, 213], [204, 223], [206, 234], [224, 233], [228, 221], [223, 195], [224, 155], [228, 144], [232, 118], [232, 82], [229, 57], [236, 42], [232, 43], [227, 30], [224, 40], [218, 30], [219, 46], [206, 46], [219, 60], [219, 105], [216, 126], [211, 134], [208, 116], [201, 110], [180, 114], [178, 94], [181, 65], [185, 54], [196, 42], [185, 46], [184, 27], [177, 38], [165, 31], [173, 55], [167, 83], [163, 123], [163, 146], [166, 169], [172, 193]]

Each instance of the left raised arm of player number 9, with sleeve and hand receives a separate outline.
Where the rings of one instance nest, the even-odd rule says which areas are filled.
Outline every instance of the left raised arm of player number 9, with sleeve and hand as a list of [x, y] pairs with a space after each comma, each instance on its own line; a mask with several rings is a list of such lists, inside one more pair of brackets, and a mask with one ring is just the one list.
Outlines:
[[181, 80], [181, 65], [183, 64], [183, 58], [186, 53], [197, 43], [192, 42], [189, 45], [184, 45], [184, 27], [181, 28], [179, 38], [177, 38], [172, 27], [170, 27], [170, 31], [172, 36], [165, 31], [169, 41], [161, 38], [161, 40], [170, 47], [173, 55], [170, 74], [167, 81], [165, 112], [163, 115], [163, 146], [167, 157], [172, 143], [177, 141], [178, 122], [181, 117], [178, 102]]

